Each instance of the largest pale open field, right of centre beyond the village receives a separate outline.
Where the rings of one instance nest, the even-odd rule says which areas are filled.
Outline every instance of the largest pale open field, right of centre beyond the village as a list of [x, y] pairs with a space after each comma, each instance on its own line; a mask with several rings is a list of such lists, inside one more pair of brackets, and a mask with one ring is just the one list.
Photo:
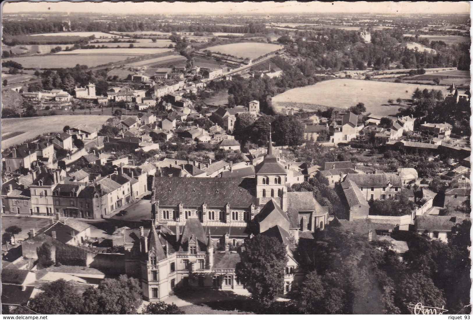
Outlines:
[[281, 104], [278, 106], [278, 103], [299, 102], [346, 109], [363, 102], [367, 112], [388, 116], [399, 109], [397, 104], [388, 105], [388, 99], [410, 99], [417, 87], [447, 93], [447, 88], [443, 86], [336, 79], [286, 91], [273, 97], [272, 103], [279, 111]]

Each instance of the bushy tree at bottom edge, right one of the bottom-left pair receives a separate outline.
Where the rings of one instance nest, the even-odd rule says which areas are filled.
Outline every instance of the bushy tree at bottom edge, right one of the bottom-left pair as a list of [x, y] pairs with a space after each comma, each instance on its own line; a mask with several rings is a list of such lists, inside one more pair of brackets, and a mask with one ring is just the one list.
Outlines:
[[136, 314], [143, 301], [140, 283], [126, 275], [107, 278], [97, 288], [88, 288], [83, 296], [85, 314]]

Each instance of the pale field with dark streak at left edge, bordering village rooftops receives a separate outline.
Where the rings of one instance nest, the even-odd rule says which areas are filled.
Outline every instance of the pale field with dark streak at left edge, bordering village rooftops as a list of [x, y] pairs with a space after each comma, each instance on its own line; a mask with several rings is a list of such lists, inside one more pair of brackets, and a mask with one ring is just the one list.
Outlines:
[[[85, 111], [85, 110], [84, 110]], [[48, 132], [62, 132], [62, 128], [66, 125], [73, 127], [85, 124], [93, 128], [101, 128], [110, 116], [91, 116], [91, 115], [75, 115], [75, 116], [48, 116], [48, 117], [32, 117], [32, 118], [4, 118], [2, 122], [2, 131], [16, 132], [18, 128], [28, 129], [21, 135], [16, 135], [9, 139], [2, 139], [2, 149], [9, 146], [23, 143], [27, 139], [32, 139], [37, 135]]]

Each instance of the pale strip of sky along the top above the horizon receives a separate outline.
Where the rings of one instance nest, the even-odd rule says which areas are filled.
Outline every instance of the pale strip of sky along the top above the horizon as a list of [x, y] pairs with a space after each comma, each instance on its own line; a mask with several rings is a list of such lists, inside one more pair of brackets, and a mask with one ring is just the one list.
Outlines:
[[146, 14], [241, 14], [245, 13], [388, 13], [388, 14], [411, 14], [411, 13], [469, 13], [470, 4], [464, 2], [105, 2], [105, 1], [18, 1], [4, 2], [4, 13], [15, 12], [103, 12], [103, 13], [146, 13]]

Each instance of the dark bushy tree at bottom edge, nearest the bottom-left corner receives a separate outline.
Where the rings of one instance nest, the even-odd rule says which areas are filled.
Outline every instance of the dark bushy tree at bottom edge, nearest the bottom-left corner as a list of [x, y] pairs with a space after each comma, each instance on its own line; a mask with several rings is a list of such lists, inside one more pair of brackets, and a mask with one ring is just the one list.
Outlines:
[[41, 287], [28, 303], [28, 308], [39, 314], [83, 314], [83, 299], [73, 286], [59, 279]]

